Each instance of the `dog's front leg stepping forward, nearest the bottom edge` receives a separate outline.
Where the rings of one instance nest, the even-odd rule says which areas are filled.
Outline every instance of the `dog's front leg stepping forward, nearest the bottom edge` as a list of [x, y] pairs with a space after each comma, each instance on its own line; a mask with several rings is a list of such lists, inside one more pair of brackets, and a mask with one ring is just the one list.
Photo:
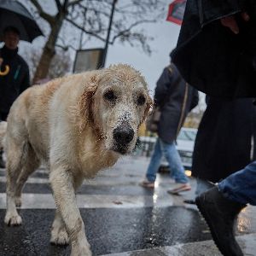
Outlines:
[[73, 177], [63, 167], [51, 170], [49, 181], [53, 189], [55, 203], [65, 223], [72, 256], [90, 256], [90, 245], [84, 232], [84, 222], [76, 204]]

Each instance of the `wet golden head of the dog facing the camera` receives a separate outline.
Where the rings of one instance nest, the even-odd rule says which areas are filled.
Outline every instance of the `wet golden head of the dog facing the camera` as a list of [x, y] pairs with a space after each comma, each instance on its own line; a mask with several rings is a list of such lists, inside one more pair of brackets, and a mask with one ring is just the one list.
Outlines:
[[90, 77], [79, 100], [83, 127], [90, 125], [108, 150], [126, 154], [137, 141], [137, 129], [152, 100], [143, 76], [128, 65], [113, 65]]

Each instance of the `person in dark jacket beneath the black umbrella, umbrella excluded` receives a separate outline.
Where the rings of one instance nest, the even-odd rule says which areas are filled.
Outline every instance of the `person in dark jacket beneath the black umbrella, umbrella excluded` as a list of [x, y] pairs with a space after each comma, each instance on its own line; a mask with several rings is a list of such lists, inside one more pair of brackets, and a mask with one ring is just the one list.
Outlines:
[[[29, 87], [29, 69], [18, 55], [20, 32], [12, 26], [3, 31], [3, 48], [0, 49], [0, 121], [7, 119], [9, 109], [20, 93]], [[0, 167], [4, 167], [0, 152]]]

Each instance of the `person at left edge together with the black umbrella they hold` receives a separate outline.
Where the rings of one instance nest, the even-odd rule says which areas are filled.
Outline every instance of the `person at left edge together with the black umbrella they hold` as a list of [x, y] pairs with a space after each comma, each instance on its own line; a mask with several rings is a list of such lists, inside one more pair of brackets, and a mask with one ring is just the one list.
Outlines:
[[[37, 22], [24, 5], [17, 1], [0, 0], [0, 121], [7, 119], [17, 96], [30, 84], [26, 61], [18, 54], [20, 40], [32, 43], [43, 35]], [[0, 148], [0, 167], [4, 167]]]

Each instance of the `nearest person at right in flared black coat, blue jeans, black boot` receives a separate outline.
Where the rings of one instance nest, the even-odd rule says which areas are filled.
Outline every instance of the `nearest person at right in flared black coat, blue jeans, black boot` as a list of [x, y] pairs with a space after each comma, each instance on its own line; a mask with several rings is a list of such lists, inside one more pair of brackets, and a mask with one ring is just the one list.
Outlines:
[[[173, 61], [190, 84], [209, 96], [254, 97], [255, 27], [253, 0], [190, 0]], [[242, 256], [234, 224], [248, 203], [256, 206], [256, 161], [196, 197], [195, 203], [220, 252]]]

